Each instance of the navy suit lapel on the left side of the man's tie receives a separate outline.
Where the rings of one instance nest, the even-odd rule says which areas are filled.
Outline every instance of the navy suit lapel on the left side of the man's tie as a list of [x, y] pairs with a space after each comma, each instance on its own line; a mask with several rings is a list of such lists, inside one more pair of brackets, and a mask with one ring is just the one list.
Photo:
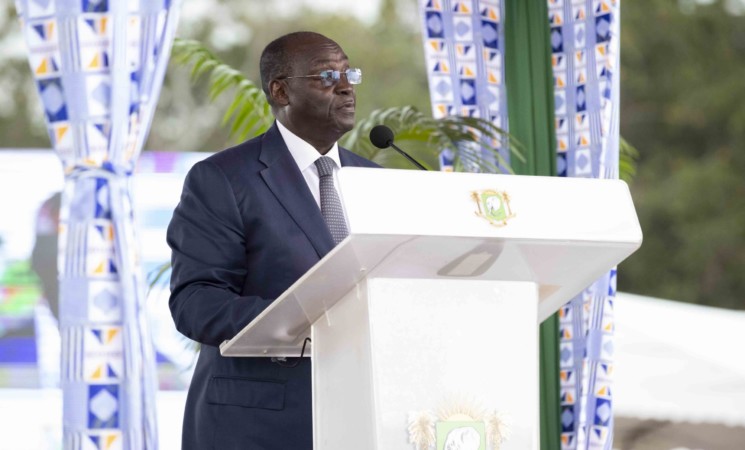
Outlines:
[[334, 241], [276, 124], [262, 139], [259, 160], [267, 166], [261, 171], [264, 182], [322, 258], [334, 247]]

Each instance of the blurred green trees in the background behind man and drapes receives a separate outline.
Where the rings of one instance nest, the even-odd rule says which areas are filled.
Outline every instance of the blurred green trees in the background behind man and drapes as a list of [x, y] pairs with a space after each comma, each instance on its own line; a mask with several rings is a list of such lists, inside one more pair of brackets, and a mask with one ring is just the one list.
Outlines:
[[[368, 2], [360, 2], [368, 3]], [[429, 114], [416, 0], [384, 0], [353, 16], [300, 0], [191, 0], [179, 36], [205, 42], [258, 80], [271, 38], [307, 29], [338, 40], [364, 71], [359, 114], [414, 105]], [[621, 134], [641, 154], [632, 195], [642, 248], [619, 268], [619, 289], [745, 309], [745, 7], [741, 0], [622, 4]], [[0, 0], [0, 136], [46, 148], [13, 3]], [[211, 103], [172, 65], [146, 149], [218, 151], [230, 103]]]

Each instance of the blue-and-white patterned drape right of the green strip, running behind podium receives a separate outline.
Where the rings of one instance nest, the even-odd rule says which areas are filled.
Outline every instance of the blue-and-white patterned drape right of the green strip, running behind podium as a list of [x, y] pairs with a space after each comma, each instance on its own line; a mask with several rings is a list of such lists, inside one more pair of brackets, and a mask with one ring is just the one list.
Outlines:
[[[559, 176], [618, 178], [620, 2], [549, 0]], [[559, 311], [562, 449], [613, 447], [616, 271]]]

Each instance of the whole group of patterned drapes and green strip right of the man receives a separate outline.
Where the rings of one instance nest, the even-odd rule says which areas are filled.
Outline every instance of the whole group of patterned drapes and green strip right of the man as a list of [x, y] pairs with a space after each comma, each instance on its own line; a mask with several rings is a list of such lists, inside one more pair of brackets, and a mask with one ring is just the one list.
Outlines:
[[[421, 0], [420, 10], [435, 117], [508, 130], [528, 153], [516, 173], [618, 176], [618, 0]], [[612, 448], [614, 297], [615, 270], [542, 325], [543, 449]]]

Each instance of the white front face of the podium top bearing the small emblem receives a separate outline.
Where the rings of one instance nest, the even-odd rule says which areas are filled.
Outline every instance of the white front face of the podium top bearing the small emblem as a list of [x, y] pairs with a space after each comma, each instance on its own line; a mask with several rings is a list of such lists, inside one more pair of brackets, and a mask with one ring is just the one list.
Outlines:
[[344, 168], [353, 234], [641, 242], [620, 180]]

